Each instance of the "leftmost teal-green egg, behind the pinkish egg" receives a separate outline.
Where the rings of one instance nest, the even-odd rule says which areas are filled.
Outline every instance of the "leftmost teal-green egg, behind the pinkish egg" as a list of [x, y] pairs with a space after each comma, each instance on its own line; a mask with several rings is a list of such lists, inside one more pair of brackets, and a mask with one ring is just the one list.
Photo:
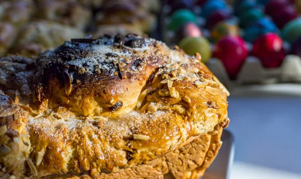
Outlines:
[[170, 30], [178, 30], [187, 22], [196, 22], [196, 15], [189, 9], [180, 9], [175, 11], [171, 16], [171, 22], [169, 23]]

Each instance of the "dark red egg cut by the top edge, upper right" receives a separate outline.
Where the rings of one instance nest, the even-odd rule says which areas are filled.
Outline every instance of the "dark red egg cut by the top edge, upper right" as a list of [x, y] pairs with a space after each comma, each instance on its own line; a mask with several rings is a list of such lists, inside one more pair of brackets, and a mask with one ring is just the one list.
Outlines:
[[265, 5], [265, 13], [274, 16], [289, 4], [288, 0], [269, 0]]

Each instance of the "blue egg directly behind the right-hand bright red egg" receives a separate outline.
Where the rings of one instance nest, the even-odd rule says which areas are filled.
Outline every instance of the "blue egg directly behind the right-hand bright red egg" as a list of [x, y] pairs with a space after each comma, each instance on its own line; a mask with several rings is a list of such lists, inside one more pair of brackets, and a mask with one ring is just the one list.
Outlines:
[[243, 38], [247, 41], [252, 42], [260, 35], [263, 35], [267, 32], [276, 33], [277, 31], [277, 26], [273, 21], [271, 21], [268, 18], [261, 18], [245, 29], [243, 33]]

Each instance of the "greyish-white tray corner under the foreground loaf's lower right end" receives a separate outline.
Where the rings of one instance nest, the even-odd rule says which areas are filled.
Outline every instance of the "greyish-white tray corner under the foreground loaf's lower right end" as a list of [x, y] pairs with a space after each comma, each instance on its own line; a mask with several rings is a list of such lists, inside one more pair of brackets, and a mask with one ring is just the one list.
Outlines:
[[200, 179], [229, 179], [234, 158], [234, 138], [230, 131], [223, 130], [223, 144], [210, 167]]

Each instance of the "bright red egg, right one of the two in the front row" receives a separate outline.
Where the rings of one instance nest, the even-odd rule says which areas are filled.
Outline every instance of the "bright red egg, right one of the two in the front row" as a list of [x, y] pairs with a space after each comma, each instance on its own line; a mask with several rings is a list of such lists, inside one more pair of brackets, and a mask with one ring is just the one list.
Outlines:
[[275, 33], [267, 33], [253, 43], [252, 55], [258, 57], [264, 67], [272, 68], [281, 65], [285, 50], [282, 39]]

